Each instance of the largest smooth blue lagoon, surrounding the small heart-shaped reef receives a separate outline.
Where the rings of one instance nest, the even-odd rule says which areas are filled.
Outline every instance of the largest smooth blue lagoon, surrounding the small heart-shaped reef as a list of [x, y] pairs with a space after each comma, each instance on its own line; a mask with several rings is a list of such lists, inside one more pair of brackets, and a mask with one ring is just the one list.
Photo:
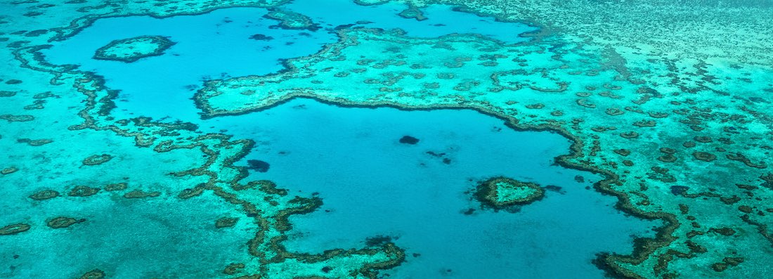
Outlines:
[[[393, 236], [409, 255], [386, 272], [397, 278], [601, 278], [591, 264], [595, 253], [630, 253], [632, 236], [650, 236], [657, 225], [623, 216], [612, 208], [615, 198], [586, 189], [598, 175], [553, 165], [568, 151], [564, 137], [513, 131], [475, 111], [342, 108], [304, 99], [216, 121], [237, 137], [264, 139], [245, 160], [271, 168], [250, 179], [322, 198], [315, 213], [291, 217], [288, 250], [363, 247], [367, 237]], [[404, 135], [420, 141], [400, 144]], [[561, 189], [515, 213], [482, 210], [465, 192], [497, 175]], [[465, 215], [468, 209], [476, 210]]]

